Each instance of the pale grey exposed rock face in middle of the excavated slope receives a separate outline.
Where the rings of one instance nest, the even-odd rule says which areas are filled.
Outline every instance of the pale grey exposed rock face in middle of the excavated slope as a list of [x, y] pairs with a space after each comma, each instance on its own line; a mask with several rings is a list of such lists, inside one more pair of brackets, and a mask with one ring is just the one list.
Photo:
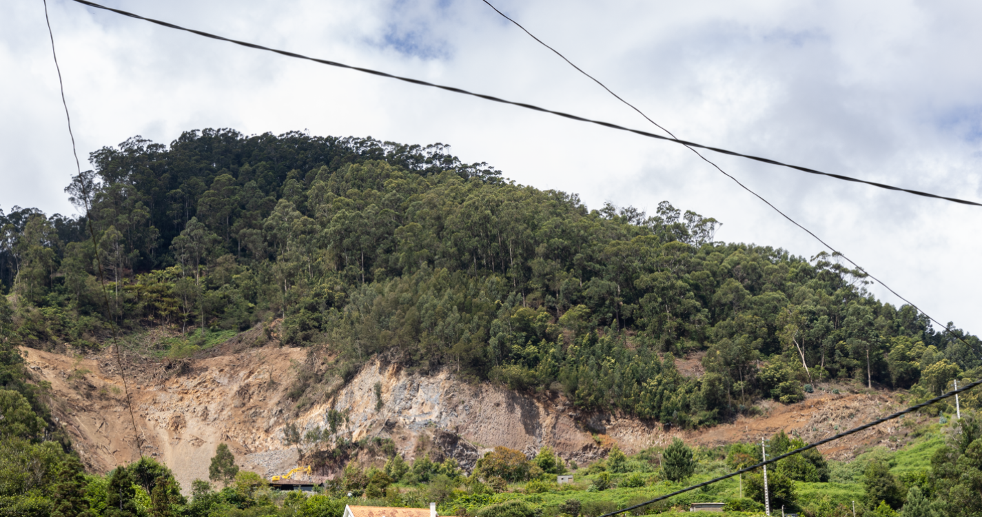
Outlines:
[[[376, 382], [382, 384], [382, 408], [377, 412]], [[375, 363], [355, 376], [333, 406], [310, 412], [307, 425], [326, 426], [328, 409], [347, 411], [349, 423], [343, 431], [351, 432], [354, 439], [389, 436], [404, 456], [412, 457], [416, 436], [425, 433], [436, 438], [435, 443], [447, 455], [469, 467], [479, 450], [497, 445], [527, 455], [550, 445], [562, 457], [580, 463], [602, 457], [605, 449], [577, 426], [571, 412], [564, 411], [567, 406], [560, 398], [550, 400], [490, 384], [467, 384], [452, 373], [423, 377], [410, 375], [396, 365]], [[322, 416], [318, 419], [318, 415]], [[632, 438], [630, 444], [623, 445], [628, 450], [648, 446], [661, 434], [660, 427], [633, 421], [621, 427], [624, 429], [618, 431]]]

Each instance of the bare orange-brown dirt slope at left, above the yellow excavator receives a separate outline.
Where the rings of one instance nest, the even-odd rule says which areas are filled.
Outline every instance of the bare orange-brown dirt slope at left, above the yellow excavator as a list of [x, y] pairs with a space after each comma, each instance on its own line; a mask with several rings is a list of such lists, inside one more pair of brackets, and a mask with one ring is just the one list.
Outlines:
[[[285, 448], [278, 433], [291, 407], [285, 379], [301, 349], [267, 347], [195, 361], [187, 373], [163, 364], [127, 367], [133, 417], [115, 361], [108, 354], [73, 359], [33, 349], [27, 366], [51, 383], [54, 415], [73, 437], [86, 467], [107, 472], [142, 453], [166, 463], [183, 488], [208, 478], [215, 447], [233, 453]], [[136, 436], [134, 434], [136, 422]]]

